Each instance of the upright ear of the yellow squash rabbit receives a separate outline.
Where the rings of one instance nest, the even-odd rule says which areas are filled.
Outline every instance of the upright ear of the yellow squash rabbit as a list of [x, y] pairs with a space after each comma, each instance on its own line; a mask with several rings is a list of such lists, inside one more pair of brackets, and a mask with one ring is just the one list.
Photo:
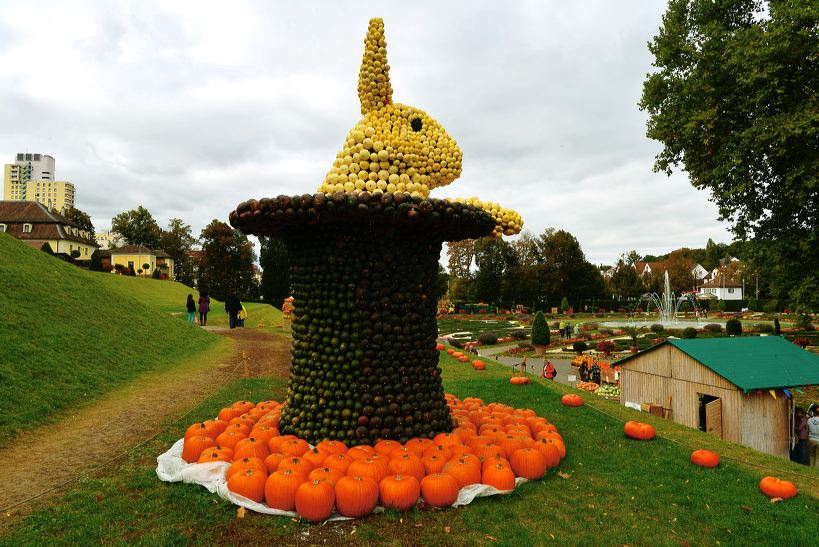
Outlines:
[[384, 21], [380, 17], [370, 19], [364, 39], [364, 58], [358, 73], [358, 98], [361, 99], [362, 114], [392, 103], [387, 41], [384, 39]]

